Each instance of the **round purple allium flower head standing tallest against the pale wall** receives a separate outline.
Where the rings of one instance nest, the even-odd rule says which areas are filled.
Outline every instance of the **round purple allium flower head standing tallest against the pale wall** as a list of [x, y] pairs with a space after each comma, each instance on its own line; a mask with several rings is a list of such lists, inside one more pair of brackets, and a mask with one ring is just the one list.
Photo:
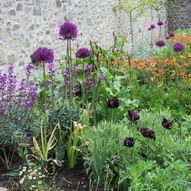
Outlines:
[[77, 26], [69, 21], [66, 21], [60, 26], [59, 35], [63, 40], [74, 40], [77, 38]]

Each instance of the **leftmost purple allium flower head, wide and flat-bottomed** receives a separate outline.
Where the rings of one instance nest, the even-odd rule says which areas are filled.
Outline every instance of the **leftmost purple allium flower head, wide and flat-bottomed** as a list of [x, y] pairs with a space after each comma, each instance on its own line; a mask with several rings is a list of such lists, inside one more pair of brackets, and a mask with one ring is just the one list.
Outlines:
[[54, 61], [54, 53], [52, 49], [43, 47], [38, 48], [33, 54], [35, 62], [52, 63]]

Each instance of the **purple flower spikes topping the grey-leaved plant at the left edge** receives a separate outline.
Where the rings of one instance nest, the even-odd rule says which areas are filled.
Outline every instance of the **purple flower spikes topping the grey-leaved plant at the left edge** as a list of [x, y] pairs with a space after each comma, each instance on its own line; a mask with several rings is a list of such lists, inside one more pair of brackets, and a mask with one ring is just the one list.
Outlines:
[[[31, 67], [26, 69], [27, 79], [31, 75]], [[19, 110], [31, 109], [37, 101], [37, 86], [27, 84], [22, 79], [17, 86], [17, 78], [14, 75], [14, 66], [10, 65], [7, 74], [0, 74], [0, 113], [8, 114], [15, 107]]]

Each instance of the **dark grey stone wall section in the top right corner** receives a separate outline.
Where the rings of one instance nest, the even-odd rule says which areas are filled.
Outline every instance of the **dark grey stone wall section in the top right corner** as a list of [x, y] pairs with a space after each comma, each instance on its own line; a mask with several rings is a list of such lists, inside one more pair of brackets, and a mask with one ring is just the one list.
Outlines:
[[169, 30], [191, 28], [191, 0], [168, 0]]

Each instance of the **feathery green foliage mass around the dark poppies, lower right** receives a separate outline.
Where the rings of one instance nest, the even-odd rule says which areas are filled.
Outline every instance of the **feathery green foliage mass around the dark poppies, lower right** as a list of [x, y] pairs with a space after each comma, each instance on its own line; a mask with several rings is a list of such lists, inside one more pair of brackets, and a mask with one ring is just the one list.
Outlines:
[[[168, 130], [162, 126], [163, 118], [172, 121], [168, 110], [143, 110], [140, 116], [137, 123], [102, 122], [84, 131], [82, 154], [87, 174], [104, 190], [111, 187], [124, 191], [127, 187], [132, 191], [188, 189], [191, 157], [188, 122], [180, 127], [173, 121], [173, 128]], [[143, 137], [142, 127], [153, 130], [156, 140]], [[123, 145], [126, 137], [135, 138], [133, 148]]]

